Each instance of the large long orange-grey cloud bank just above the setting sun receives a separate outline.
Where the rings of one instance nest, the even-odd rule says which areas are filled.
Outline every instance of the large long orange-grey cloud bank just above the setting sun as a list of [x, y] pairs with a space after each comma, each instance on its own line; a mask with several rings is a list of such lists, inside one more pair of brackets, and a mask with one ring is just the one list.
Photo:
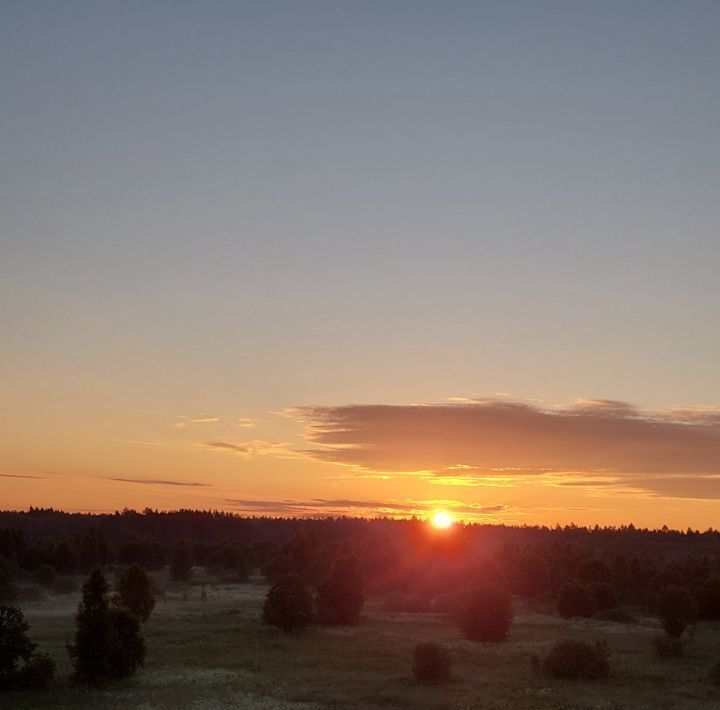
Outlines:
[[720, 498], [720, 411], [714, 407], [647, 411], [583, 400], [542, 408], [477, 400], [290, 413], [304, 422], [314, 445], [307, 456], [365, 471], [430, 471], [458, 482], [552, 476], [557, 485]]

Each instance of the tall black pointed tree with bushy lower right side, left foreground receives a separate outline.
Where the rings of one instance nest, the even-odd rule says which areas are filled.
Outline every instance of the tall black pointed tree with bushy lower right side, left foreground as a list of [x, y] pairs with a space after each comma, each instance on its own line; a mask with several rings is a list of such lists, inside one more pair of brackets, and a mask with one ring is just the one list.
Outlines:
[[75, 643], [68, 647], [73, 677], [85, 685], [126, 678], [144, 661], [140, 622], [124, 608], [111, 608], [107, 594], [105, 576], [93, 570], [83, 585], [75, 617]]

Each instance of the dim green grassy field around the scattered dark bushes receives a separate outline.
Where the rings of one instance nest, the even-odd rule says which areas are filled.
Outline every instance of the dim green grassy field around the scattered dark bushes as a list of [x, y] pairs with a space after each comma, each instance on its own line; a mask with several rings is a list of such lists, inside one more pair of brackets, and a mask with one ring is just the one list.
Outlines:
[[[78, 595], [23, 605], [40, 651], [58, 662], [59, 683], [48, 693], [0, 697], [0, 708], [102, 710], [718, 710], [720, 689], [707, 680], [720, 658], [720, 624], [698, 625], [684, 657], [660, 661], [651, 647], [652, 619], [632, 624], [566, 621], [520, 608], [502, 644], [464, 641], [446, 618], [389, 614], [370, 600], [355, 628], [312, 628], [285, 636], [259, 622], [267, 588], [258, 583], [170, 589], [145, 626], [148, 655], [135, 678], [103, 690], [70, 686], [66, 641], [72, 638]], [[185, 597], [185, 598], [184, 598]], [[563, 637], [605, 639], [612, 675], [584, 683], [548, 680], [533, 669]], [[455, 665], [442, 687], [416, 683], [412, 648], [421, 640], [447, 644]]]

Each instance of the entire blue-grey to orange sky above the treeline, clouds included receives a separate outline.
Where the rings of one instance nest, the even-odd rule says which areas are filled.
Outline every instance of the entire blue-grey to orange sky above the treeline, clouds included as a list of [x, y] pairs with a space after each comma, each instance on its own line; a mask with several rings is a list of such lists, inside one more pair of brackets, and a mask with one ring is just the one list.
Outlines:
[[5, 0], [0, 67], [0, 508], [717, 525], [714, 0]]

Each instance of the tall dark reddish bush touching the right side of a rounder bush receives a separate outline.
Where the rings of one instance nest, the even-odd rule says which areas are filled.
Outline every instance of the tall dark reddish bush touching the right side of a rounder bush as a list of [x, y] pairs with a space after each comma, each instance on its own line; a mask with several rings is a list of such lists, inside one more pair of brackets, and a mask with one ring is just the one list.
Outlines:
[[360, 620], [364, 603], [362, 573], [357, 559], [338, 558], [318, 587], [318, 621], [333, 626], [354, 626]]

